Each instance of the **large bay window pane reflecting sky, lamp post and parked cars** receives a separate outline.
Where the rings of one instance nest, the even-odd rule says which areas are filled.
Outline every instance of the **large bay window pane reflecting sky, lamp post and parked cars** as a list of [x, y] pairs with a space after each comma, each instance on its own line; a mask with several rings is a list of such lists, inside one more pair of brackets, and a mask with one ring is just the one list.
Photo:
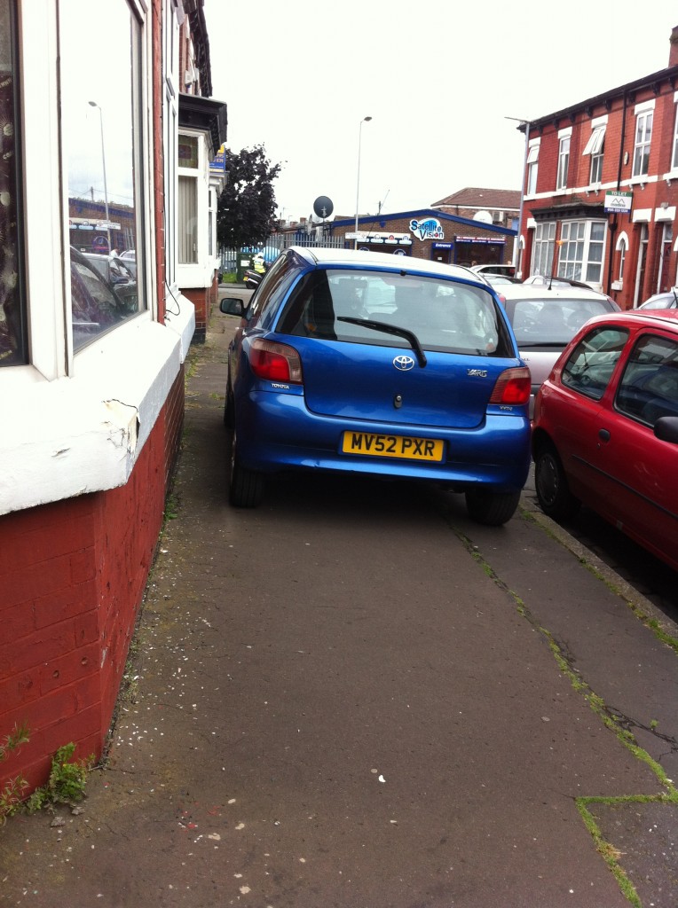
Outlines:
[[[139, 28], [125, 0], [62, 5], [63, 134], [74, 350], [145, 309], [137, 281], [140, 222], [135, 84]], [[105, 22], [105, 40], [100, 35]], [[79, 253], [79, 254], [78, 254]]]

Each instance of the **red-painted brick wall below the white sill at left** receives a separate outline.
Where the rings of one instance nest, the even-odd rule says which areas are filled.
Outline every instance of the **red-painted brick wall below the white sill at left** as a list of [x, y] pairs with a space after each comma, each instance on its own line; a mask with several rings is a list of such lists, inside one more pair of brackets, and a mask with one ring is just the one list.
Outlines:
[[125, 486], [0, 518], [0, 739], [26, 723], [30, 742], [0, 763], [46, 781], [73, 741], [101, 755], [165, 508], [180, 438], [183, 375]]

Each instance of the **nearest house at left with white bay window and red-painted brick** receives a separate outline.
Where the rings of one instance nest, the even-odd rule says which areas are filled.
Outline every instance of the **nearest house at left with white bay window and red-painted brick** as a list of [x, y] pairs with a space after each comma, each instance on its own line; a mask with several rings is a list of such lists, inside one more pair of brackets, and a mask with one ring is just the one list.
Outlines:
[[[203, 0], [0, 0], [0, 70], [0, 740], [30, 734], [2, 791], [43, 784], [61, 745], [105, 747], [183, 426], [179, 242], [187, 290], [215, 284], [225, 109], [203, 96]], [[126, 296], [75, 236], [135, 251]]]

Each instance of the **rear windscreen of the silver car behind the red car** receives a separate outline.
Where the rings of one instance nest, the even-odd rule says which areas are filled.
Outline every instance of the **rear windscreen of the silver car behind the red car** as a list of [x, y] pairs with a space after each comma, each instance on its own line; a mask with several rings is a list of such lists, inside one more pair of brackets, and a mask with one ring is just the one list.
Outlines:
[[566, 296], [530, 297], [506, 303], [519, 347], [566, 344], [582, 325], [595, 315], [610, 311], [608, 303]]

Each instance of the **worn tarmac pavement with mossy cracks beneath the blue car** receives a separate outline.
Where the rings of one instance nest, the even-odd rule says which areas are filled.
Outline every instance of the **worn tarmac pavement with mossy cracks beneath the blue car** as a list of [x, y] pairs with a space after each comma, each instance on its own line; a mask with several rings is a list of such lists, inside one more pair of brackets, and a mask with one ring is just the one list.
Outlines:
[[0, 904], [675, 908], [678, 627], [532, 481], [510, 532], [367, 486], [229, 508], [234, 324], [187, 360], [105, 763], [0, 830]]

